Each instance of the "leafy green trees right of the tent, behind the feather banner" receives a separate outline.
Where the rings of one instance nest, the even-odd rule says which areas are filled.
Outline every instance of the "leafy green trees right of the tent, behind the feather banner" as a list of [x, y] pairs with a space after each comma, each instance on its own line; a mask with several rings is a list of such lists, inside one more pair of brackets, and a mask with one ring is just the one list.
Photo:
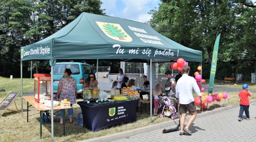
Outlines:
[[[256, 8], [250, 0], [161, 0], [150, 25], [159, 33], [203, 52], [203, 76], [208, 78], [218, 34], [216, 78], [243, 73], [249, 79], [256, 68]], [[232, 65], [232, 66], [230, 66]]]

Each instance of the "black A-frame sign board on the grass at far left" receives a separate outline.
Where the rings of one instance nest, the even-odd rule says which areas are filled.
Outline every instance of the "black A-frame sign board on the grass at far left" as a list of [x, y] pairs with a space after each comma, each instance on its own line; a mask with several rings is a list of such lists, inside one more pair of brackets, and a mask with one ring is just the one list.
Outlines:
[[[0, 102], [0, 109], [6, 110], [10, 106], [10, 104], [15, 100], [15, 98], [20, 94], [20, 92], [10, 92], [1, 102]], [[15, 104], [16, 106], [16, 104]], [[16, 106], [17, 109], [17, 106]], [[17, 109], [18, 110], [18, 109]], [[4, 113], [4, 112], [3, 112]], [[1, 115], [3, 114], [1, 113]], [[0, 115], [0, 116], [1, 116]]]

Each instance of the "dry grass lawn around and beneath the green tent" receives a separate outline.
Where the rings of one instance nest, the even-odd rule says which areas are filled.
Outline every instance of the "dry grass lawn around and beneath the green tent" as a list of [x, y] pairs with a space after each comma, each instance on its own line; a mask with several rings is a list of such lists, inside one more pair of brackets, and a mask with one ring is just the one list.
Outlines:
[[[28, 92], [33, 90], [33, 79], [23, 79], [23, 92]], [[249, 85], [251, 88], [256, 88], [256, 85]], [[10, 80], [9, 78], [0, 77], [0, 89], [3, 88], [6, 91], [0, 92], [0, 100], [4, 98], [9, 91], [20, 91], [20, 79]], [[222, 100], [221, 102], [209, 103], [209, 106], [212, 106], [213, 109], [218, 107], [239, 104], [238, 92], [226, 92], [228, 98]], [[255, 99], [256, 96], [252, 96], [250, 99]], [[20, 97], [16, 98], [16, 104], [18, 109], [20, 109]], [[79, 100], [78, 100], [79, 101]], [[27, 112], [26, 112], [27, 102], [23, 100], [23, 118], [21, 118], [21, 112], [11, 112], [6, 111], [3, 116], [0, 117], [0, 121], [4, 122], [0, 125], [0, 140], [5, 142], [13, 141], [38, 141], [40, 139], [40, 129], [39, 129], [39, 111], [35, 108], [30, 107], [29, 111], [29, 123], [27, 123]], [[108, 127], [106, 129], [100, 130], [98, 132], [90, 132], [88, 129], [78, 126], [78, 116], [77, 114], [81, 112], [79, 105], [75, 104], [74, 107], [74, 122], [69, 124], [68, 113], [66, 111], [66, 135], [63, 136], [63, 126], [59, 124], [59, 120], [56, 120], [54, 123], [54, 137], [56, 142], [66, 142], [66, 141], [79, 141], [86, 140], [90, 138], [95, 138], [99, 136], [104, 136], [112, 133], [119, 133], [143, 126], [150, 125], [150, 114], [145, 112], [140, 115], [140, 112], [137, 113], [137, 122], [128, 123], [128, 124], [119, 124], [115, 126]], [[14, 109], [15, 106], [12, 104], [11, 109]], [[149, 108], [148, 108], [149, 109]], [[199, 107], [197, 107], [199, 110]], [[149, 111], [147, 111], [149, 112]], [[237, 112], [238, 113], [238, 112]], [[164, 121], [171, 121], [170, 118], [164, 117], [159, 118], [153, 116], [153, 124], [161, 123]], [[42, 126], [42, 140], [49, 142], [51, 140], [51, 124], [43, 123]]]

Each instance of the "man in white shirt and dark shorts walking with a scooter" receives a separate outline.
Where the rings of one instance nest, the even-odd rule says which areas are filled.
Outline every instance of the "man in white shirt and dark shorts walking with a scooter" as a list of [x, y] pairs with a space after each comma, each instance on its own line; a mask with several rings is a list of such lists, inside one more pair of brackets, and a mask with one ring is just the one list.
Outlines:
[[[188, 76], [190, 67], [184, 66], [182, 70], [183, 70], [183, 75], [177, 81], [177, 85], [176, 85], [176, 98], [180, 106], [179, 111], [181, 114], [179, 135], [183, 135], [186, 133], [187, 135], [191, 135], [188, 128], [197, 117], [197, 111], [196, 111], [196, 106], [195, 106], [192, 92], [194, 89], [195, 92], [197, 93], [197, 96], [199, 96], [200, 98], [201, 98], [201, 92], [197, 85], [196, 80], [193, 77]], [[186, 127], [184, 128], [187, 111], [192, 115], [189, 118]]]

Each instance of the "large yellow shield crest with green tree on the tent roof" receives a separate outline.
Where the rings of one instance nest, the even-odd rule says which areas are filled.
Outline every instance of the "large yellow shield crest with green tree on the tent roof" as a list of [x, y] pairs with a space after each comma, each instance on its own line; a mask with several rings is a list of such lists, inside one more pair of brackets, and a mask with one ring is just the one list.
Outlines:
[[115, 23], [98, 22], [98, 27], [110, 38], [121, 42], [131, 42], [132, 38], [128, 35], [125, 30]]

